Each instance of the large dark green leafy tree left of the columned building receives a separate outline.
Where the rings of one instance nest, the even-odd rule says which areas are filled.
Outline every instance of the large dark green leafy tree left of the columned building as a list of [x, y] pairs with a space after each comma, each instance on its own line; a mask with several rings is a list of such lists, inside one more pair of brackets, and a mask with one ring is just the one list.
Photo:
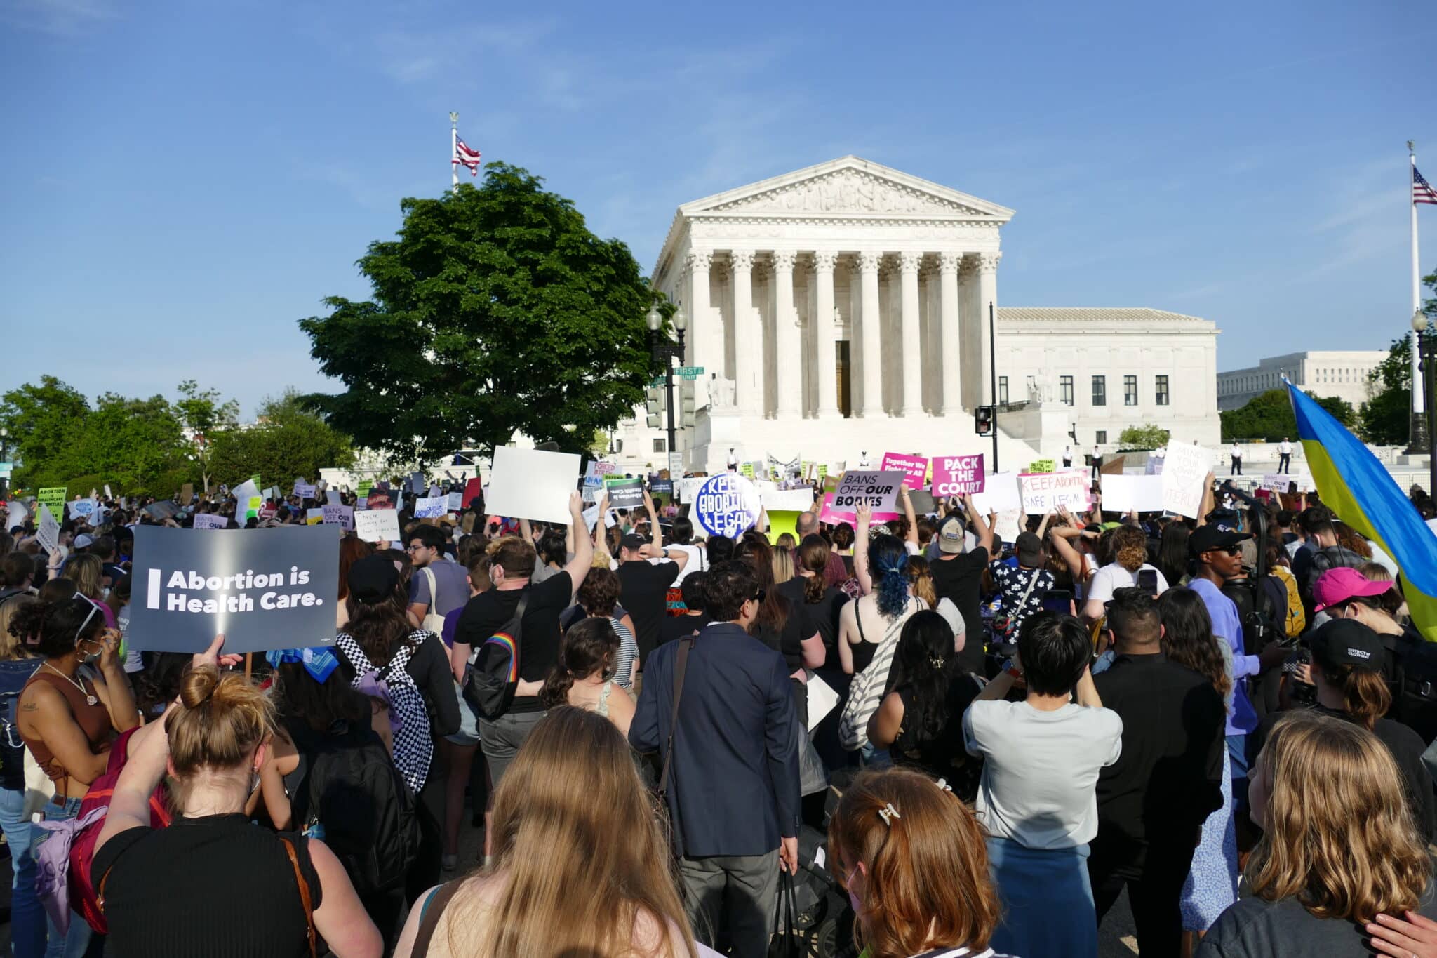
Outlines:
[[338, 395], [306, 399], [359, 445], [434, 462], [516, 432], [582, 452], [644, 398], [655, 300], [618, 240], [517, 167], [399, 204], [397, 240], [359, 260], [374, 299], [300, 320]]

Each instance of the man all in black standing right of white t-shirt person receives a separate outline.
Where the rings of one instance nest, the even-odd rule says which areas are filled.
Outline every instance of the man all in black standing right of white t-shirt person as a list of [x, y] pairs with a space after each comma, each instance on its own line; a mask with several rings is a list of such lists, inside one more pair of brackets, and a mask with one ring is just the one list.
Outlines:
[[1150, 595], [1114, 590], [1106, 620], [1117, 658], [1094, 687], [1122, 718], [1122, 754], [1098, 773], [1094, 905], [1101, 924], [1127, 886], [1138, 949], [1177, 955], [1183, 883], [1203, 822], [1223, 806], [1227, 710], [1206, 675], [1164, 655]]

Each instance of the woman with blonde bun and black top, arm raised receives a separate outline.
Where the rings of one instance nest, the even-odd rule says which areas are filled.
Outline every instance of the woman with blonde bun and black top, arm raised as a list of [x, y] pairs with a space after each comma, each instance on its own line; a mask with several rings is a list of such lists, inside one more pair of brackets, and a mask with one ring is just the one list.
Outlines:
[[[384, 942], [333, 852], [244, 814], [273, 760], [274, 707], [243, 675], [220, 672], [223, 642], [194, 656], [180, 701], [128, 743], [91, 866], [106, 952], [303, 958], [323, 936], [341, 958], [378, 958]], [[178, 816], [157, 830], [149, 796], [167, 771]], [[246, 906], [216, 908], [236, 901]]]

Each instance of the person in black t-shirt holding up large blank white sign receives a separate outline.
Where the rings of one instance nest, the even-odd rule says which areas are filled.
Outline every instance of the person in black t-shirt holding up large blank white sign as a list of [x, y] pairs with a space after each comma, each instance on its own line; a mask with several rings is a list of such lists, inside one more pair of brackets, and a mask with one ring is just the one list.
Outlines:
[[[569, 518], [575, 529], [585, 529], [583, 501], [578, 493], [569, 496]], [[573, 559], [553, 576], [529, 585], [535, 563], [535, 547], [517, 536], [506, 539], [490, 557], [489, 580], [493, 587], [468, 600], [454, 629], [454, 661], [468, 661], [477, 649], [509, 623], [519, 608], [519, 596], [529, 593], [519, 638], [519, 688], [509, 711], [493, 721], [479, 720], [479, 740], [489, 761], [489, 774], [499, 786], [504, 770], [514, 760], [519, 747], [543, 718], [539, 689], [559, 661], [559, 613], [573, 602], [573, 593], [583, 585], [593, 562], [593, 543], [588, 536], [573, 537]], [[634, 616], [638, 619], [638, 616]]]

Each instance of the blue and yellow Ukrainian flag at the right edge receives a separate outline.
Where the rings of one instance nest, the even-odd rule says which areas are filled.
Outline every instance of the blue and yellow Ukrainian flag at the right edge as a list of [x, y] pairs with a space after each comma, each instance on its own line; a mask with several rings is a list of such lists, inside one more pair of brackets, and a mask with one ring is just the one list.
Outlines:
[[1361, 440], [1312, 396], [1283, 382], [1322, 503], [1392, 557], [1403, 570], [1413, 625], [1437, 642], [1437, 534]]

